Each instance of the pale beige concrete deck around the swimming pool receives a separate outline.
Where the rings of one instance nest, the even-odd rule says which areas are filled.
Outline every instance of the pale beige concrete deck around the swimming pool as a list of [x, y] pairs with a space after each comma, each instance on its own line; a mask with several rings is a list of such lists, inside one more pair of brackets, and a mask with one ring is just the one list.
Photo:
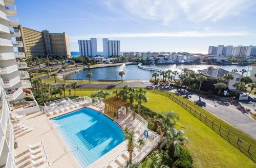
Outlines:
[[[58, 110], [56, 112], [49, 114], [41, 114], [41, 113], [34, 113], [31, 115], [26, 116], [19, 122], [27, 124], [31, 127], [34, 127], [32, 131], [26, 132], [18, 138], [15, 139], [15, 142], [18, 143], [18, 148], [15, 149], [15, 163], [16, 167], [31, 167], [32, 164], [30, 162], [28, 145], [33, 145], [38, 142], [43, 142], [42, 145], [45, 147], [47, 160], [44, 162], [49, 162], [51, 167], [80, 167], [77, 159], [74, 157], [72, 152], [67, 147], [65, 141], [63, 141], [61, 135], [58, 131], [54, 128], [51, 120], [52, 118], [68, 114], [72, 111], [89, 107], [95, 110], [100, 111], [103, 113], [104, 105], [102, 103], [94, 103], [90, 104], [87, 102], [77, 103], [75, 106], [68, 107], [64, 111]], [[119, 111], [119, 119], [115, 122], [122, 128], [128, 125], [129, 122], [133, 121], [131, 115], [126, 115], [124, 111]], [[15, 130], [15, 129], [14, 129]], [[139, 134], [137, 132], [136, 134]], [[143, 135], [138, 135], [142, 137]], [[146, 142], [148, 144], [150, 142]], [[121, 165], [117, 160], [116, 157], [121, 155], [123, 158], [127, 159], [125, 155], [123, 155], [123, 151], [126, 150], [126, 141], [122, 142], [110, 152], [103, 155], [101, 158], [96, 160], [92, 163], [89, 167], [111, 167], [109, 165], [110, 161], [115, 161], [117, 164]], [[136, 153], [137, 152], [137, 153]], [[136, 151], [134, 154], [138, 154], [139, 150]]]

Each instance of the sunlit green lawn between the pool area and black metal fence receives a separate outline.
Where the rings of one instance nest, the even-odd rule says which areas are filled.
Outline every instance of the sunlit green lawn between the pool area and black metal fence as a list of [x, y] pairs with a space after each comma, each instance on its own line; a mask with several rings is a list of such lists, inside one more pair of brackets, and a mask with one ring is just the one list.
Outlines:
[[[77, 89], [76, 95], [90, 96], [96, 90]], [[143, 105], [148, 108], [158, 113], [173, 110], [180, 115], [177, 128], [182, 129], [189, 139], [187, 148], [193, 154], [195, 167], [255, 167], [252, 160], [169, 98], [152, 91], [148, 91], [147, 97], [149, 101]]]

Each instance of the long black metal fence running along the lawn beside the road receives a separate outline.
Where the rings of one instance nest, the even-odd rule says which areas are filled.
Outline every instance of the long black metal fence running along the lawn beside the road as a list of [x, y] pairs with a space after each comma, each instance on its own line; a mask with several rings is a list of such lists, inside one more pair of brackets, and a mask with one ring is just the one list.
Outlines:
[[166, 91], [156, 90], [156, 89], [150, 89], [151, 91], [161, 94], [163, 96], [166, 96], [170, 99], [172, 99], [174, 102], [182, 106], [185, 110], [187, 110], [191, 115], [195, 116], [197, 119], [199, 119], [201, 122], [203, 122], [205, 125], [210, 127], [212, 130], [217, 132], [219, 135], [221, 135], [226, 141], [228, 141], [231, 145], [238, 148], [242, 153], [244, 153], [246, 156], [248, 156], [251, 160], [256, 162], [256, 148], [252, 146], [251, 144], [244, 141], [242, 138], [240, 138], [238, 135], [234, 134], [215, 120], [212, 120], [208, 116], [202, 114], [197, 109], [191, 107], [189, 104], [182, 101], [177, 96], [170, 94]]

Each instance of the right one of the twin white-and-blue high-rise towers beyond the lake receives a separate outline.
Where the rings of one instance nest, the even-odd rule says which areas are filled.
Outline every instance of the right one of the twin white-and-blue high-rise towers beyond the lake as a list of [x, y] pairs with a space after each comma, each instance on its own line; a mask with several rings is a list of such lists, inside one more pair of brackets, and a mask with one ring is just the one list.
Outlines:
[[102, 41], [104, 57], [120, 56], [120, 40], [109, 40], [108, 38], [103, 38]]

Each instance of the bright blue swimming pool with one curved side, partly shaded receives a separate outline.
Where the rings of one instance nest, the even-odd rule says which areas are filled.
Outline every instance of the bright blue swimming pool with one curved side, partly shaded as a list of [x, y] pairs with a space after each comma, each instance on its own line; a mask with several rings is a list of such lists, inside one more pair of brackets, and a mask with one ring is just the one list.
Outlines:
[[87, 167], [124, 141], [121, 128], [91, 108], [52, 119], [82, 167]]

